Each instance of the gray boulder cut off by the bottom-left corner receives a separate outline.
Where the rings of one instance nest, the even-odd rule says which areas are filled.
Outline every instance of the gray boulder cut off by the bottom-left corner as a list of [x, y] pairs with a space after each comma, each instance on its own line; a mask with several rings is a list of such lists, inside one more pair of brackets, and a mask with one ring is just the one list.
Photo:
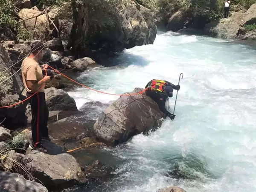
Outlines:
[[1, 192], [48, 192], [40, 183], [26, 180], [17, 173], [0, 171], [0, 191]]

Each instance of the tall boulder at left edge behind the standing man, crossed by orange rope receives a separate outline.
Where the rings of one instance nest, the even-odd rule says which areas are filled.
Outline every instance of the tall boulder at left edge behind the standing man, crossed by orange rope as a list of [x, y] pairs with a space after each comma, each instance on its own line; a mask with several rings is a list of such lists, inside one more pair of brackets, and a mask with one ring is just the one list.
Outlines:
[[[23, 82], [12, 67], [12, 62], [0, 44], [0, 106], [13, 105], [23, 99], [19, 94], [23, 90]], [[26, 105], [20, 104], [10, 108], [0, 108], [0, 122], [3, 125], [26, 125]]]

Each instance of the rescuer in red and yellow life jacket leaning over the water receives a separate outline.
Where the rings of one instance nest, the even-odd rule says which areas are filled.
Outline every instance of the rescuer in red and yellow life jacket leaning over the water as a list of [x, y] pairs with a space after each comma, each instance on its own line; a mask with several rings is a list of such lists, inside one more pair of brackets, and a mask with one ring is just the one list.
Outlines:
[[165, 108], [165, 102], [168, 97], [172, 97], [173, 90], [180, 90], [180, 85], [174, 85], [168, 81], [156, 80], [153, 79], [148, 82], [145, 88], [148, 88], [145, 93], [147, 96], [150, 96], [159, 106], [160, 111], [169, 116], [172, 120], [175, 118], [175, 115], [170, 113]]

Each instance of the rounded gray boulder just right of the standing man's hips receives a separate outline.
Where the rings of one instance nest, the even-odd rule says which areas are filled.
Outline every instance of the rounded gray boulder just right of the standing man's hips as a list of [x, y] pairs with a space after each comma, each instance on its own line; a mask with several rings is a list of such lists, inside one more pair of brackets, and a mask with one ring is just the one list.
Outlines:
[[49, 111], [76, 111], [76, 102], [66, 92], [54, 87], [45, 89], [45, 99]]

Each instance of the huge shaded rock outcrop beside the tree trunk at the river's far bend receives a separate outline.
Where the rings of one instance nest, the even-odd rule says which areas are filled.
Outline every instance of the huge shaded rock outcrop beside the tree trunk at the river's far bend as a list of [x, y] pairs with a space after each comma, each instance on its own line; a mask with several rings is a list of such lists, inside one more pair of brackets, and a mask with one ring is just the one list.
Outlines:
[[78, 21], [79, 35], [73, 48], [79, 58], [90, 56], [97, 59], [125, 48], [153, 44], [157, 34], [151, 11], [133, 0], [97, 10], [81, 6]]

